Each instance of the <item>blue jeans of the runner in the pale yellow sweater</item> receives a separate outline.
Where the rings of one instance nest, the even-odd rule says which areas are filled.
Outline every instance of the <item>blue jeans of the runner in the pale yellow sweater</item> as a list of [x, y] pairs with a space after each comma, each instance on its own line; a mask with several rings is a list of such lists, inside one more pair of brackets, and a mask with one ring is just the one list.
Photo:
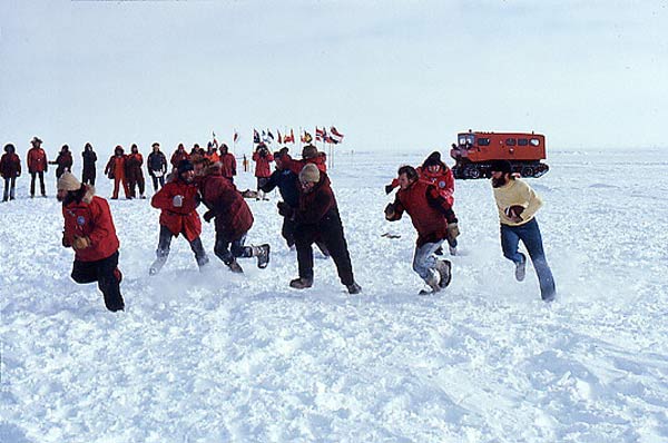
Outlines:
[[554, 278], [546, 259], [546, 253], [542, 248], [542, 237], [540, 236], [540, 228], [536, 218], [520, 226], [501, 225], [501, 248], [503, 249], [503, 256], [515, 264], [522, 262], [522, 256], [518, 252], [520, 240], [527, 247], [531, 262], [533, 262], [542, 299], [554, 298], [557, 292], [554, 288]]

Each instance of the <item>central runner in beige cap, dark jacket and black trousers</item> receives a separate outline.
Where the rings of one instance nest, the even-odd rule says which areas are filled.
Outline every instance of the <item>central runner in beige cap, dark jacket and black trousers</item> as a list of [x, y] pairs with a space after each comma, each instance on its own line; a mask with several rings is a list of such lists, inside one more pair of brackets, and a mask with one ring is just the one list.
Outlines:
[[278, 203], [278, 214], [296, 222], [295, 245], [299, 277], [289, 286], [304, 289], [313, 286], [313, 248], [316, 238], [322, 238], [327, 247], [341, 283], [350, 294], [358, 294], [362, 288], [355, 283], [353, 266], [343, 233], [343, 224], [330, 178], [315, 165], [306, 165], [299, 173], [299, 204], [292, 208], [287, 203]]

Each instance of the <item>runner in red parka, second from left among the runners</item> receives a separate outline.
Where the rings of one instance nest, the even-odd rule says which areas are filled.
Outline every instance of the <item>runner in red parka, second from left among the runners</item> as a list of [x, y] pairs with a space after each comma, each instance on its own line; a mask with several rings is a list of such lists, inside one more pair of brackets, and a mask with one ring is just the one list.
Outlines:
[[150, 265], [149, 275], [156, 275], [169, 256], [171, 238], [183, 234], [190, 244], [199, 268], [208, 263], [202, 245], [202, 220], [197, 214], [198, 190], [195, 184], [195, 171], [189, 160], [181, 160], [168, 181], [151, 198], [154, 208], [160, 209], [160, 238], [156, 250], [156, 260]]

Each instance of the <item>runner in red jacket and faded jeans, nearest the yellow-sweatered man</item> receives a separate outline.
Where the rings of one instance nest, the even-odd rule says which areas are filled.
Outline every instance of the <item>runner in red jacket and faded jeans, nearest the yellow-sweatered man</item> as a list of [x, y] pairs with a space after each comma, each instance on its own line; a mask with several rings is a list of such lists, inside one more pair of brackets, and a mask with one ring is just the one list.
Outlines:
[[436, 293], [450, 284], [452, 279], [451, 263], [436, 259], [435, 250], [445, 238], [459, 235], [458, 220], [445, 198], [436, 187], [419, 179], [412, 166], [402, 166], [397, 171], [400, 189], [394, 203], [385, 207], [385, 218], [390, 222], [401, 219], [404, 210], [418, 230], [413, 270], [431, 288], [420, 294]]

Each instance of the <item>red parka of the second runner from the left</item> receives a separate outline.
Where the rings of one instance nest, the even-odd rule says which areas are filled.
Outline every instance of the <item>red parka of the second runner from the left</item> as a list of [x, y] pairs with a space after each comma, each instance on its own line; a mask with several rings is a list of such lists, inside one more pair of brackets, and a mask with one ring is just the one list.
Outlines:
[[[181, 207], [174, 206], [174, 197], [183, 196]], [[193, 242], [202, 234], [202, 220], [195, 209], [197, 207], [197, 185], [187, 184], [180, 178], [168, 181], [150, 200], [154, 208], [161, 209], [160, 225], [166, 226], [178, 237], [184, 234]]]

